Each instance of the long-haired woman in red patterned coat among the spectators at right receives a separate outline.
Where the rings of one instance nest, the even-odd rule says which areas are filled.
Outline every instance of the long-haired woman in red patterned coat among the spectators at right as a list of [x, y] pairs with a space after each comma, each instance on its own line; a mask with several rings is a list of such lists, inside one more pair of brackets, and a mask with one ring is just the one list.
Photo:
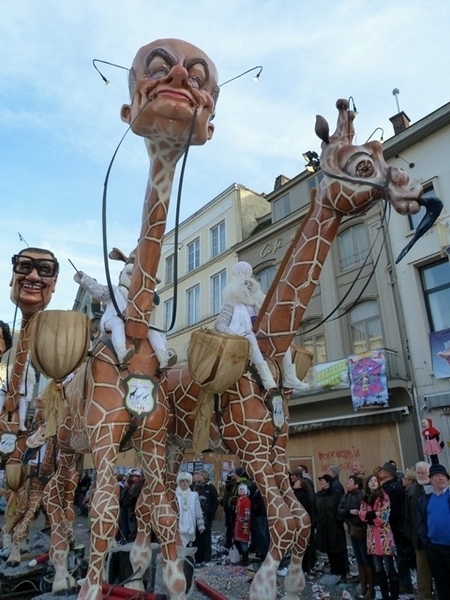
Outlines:
[[368, 477], [359, 518], [367, 523], [367, 553], [373, 556], [383, 600], [398, 600], [399, 579], [395, 568], [395, 541], [389, 525], [390, 500], [376, 475]]

